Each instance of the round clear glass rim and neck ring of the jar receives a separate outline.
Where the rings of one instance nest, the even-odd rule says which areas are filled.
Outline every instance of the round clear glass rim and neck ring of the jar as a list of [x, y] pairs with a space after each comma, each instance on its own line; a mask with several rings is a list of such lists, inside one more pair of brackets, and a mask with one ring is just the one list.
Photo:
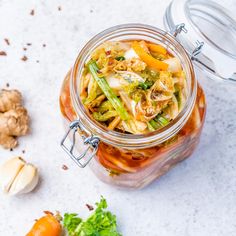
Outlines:
[[[188, 97], [186, 104], [179, 115], [167, 126], [147, 134], [133, 135], [123, 134], [108, 130], [101, 124], [92, 120], [85, 110], [80, 99], [80, 78], [82, 76], [84, 64], [89, 60], [91, 52], [105, 41], [117, 40], [146, 40], [156, 44], [161, 44], [176, 57], [183, 66], [186, 75]], [[193, 65], [184, 48], [177, 40], [165, 31], [158, 28], [142, 24], [125, 24], [109, 28], [92, 38], [81, 50], [71, 72], [70, 84], [72, 103], [78, 119], [84, 126], [85, 132], [93, 134], [101, 141], [112, 146], [123, 148], [146, 148], [158, 145], [170, 139], [185, 125], [195, 104], [197, 82], [195, 79]]]

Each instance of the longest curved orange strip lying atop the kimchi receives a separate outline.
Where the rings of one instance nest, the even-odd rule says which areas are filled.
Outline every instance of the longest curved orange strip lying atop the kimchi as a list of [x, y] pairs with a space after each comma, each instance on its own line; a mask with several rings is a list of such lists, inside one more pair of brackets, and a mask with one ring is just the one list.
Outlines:
[[138, 54], [141, 60], [143, 60], [149, 67], [156, 70], [167, 70], [168, 64], [149, 55], [138, 42], [133, 42], [132, 48]]

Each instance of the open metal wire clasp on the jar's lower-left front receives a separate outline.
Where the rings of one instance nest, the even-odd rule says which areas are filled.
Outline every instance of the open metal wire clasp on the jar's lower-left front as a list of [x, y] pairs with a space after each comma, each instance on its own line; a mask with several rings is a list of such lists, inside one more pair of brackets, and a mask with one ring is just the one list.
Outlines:
[[[76, 156], [74, 154], [75, 144], [76, 144], [76, 132], [80, 130], [84, 132], [83, 126], [81, 124], [80, 120], [75, 120], [71, 122], [69, 129], [65, 136], [63, 137], [61, 141], [61, 147], [64, 149], [64, 151], [71, 157], [71, 159], [81, 168], [84, 168], [88, 165], [88, 163], [91, 161], [91, 159], [95, 156], [98, 145], [100, 142], [100, 139], [96, 136], [93, 136], [93, 134], [90, 134], [89, 136], [82, 135], [83, 144], [87, 146], [85, 151], [80, 154], [79, 156]], [[68, 147], [65, 143], [66, 140], [69, 139], [69, 135], [72, 134], [72, 143]], [[91, 150], [92, 152], [89, 152]]]

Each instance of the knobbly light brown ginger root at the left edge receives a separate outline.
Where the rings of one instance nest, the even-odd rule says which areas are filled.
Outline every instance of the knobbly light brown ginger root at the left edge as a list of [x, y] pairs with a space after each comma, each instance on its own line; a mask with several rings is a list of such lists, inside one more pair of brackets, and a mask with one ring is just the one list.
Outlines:
[[0, 145], [10, 149], [17, 146], [17, 137], [29, 131], [29, 116], [22, 106], [22, 95], [17, 90], [0, 91]]

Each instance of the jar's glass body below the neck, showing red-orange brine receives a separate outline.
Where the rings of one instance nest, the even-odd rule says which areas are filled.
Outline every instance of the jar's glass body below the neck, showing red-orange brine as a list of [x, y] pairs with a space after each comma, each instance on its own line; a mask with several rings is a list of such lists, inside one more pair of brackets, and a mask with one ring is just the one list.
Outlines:
[[[66, 123], [78, 118], [71, 100], [70, 79], [71, 72], [65, 77], [60, 94], [61, 113]], [[90, 167], [100, 180], [108, 184], [128, 188], [145, 187], [192, 154], [200, 139], [205, 112], [205, 95], [198, 85], [191, 115], [177, 134], [163, 143], [143, 149], [122, 148], [100, 142]], [[82, 144], [82, 138], [79, 139]], [[82, 152], [83, 145], [80, 145], [80, 141], [78, 143], [77, 149]]]

